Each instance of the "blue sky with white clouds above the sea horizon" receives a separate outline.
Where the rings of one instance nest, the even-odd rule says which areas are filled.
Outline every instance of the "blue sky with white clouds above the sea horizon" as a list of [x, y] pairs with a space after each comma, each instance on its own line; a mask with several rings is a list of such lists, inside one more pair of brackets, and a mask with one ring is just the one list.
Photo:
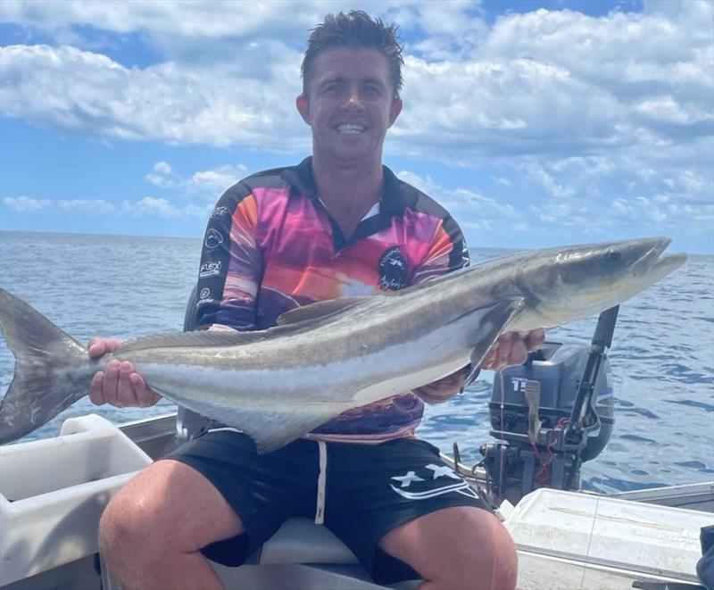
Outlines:
[[0, 2], [0, 229], [200, 237], [311, 151], [309, 31], [400, 27], [384, 160], [469, 245], [668, 236], [714, 253], [714, 2]]

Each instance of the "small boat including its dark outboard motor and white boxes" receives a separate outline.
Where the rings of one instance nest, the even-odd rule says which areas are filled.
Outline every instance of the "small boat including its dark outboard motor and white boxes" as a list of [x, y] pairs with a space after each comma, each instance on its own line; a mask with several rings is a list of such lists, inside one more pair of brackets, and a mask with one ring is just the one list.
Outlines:
[[[546, 343], [523, 366], [500, 371], [490, 403], [499, 442], [484, 445], [474, 466], [456, 445], [443, 455], [511, 533], [520, 590], [703, 587], [695, 565], [700, 530], [714, 524], [714, 482], [580, 489], [582, 461], [610, 436], [605, 353], [616, 319], [617, 309], [603, 312], [589, 346]], [[119, 588], [98, 550], [104, 506], [202, 420], [182, 408], [120, 426], [88, 414], [65, 420], [59, 436], [0, 447], [0, 590]], [[420, 582], [379, 586], [309, 519], [287, 520], [239, 568], [212, 566], [227, 588], [252, 590], [407, 590]]]

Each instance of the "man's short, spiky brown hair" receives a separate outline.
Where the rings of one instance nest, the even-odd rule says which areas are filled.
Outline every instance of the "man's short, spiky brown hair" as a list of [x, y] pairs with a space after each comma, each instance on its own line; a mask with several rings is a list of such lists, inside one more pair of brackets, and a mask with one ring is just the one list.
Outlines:
[[389, 73], [394, 84], [394, 96], [402, 89], [402, 43], [397, 34], [398, 27], [386, 25], [373, 19], [367, 12], [353, 10], [328, 14], [325, 21], [312, 29], [307, 40], [307, 50], [300, 71], [303, 76], [303, 93], [307, 94], [312, 65], [317, 56], [335, 47], [369, 47], [377, 49], [386, 57]]

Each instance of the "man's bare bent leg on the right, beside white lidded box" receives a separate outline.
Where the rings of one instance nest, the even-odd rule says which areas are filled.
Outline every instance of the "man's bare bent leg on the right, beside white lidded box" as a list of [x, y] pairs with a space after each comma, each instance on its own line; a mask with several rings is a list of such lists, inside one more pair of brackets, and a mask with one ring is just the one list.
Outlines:
[[419, 590], [512, 590], [518, 558], [508, 531], [490, 512], [454, 506], [389, 531], [379, 546], [408, 563]]

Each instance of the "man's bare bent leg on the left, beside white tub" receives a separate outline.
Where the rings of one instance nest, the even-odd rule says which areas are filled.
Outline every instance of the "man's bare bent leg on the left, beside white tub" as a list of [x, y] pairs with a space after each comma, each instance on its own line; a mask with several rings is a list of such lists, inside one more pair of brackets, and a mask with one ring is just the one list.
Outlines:
[[220, 492], [179, 461], [157, 461], [116, 494], [99, 523], [99, 545], [122, 588], [221, 588], [200, 553], [244, 532]]

